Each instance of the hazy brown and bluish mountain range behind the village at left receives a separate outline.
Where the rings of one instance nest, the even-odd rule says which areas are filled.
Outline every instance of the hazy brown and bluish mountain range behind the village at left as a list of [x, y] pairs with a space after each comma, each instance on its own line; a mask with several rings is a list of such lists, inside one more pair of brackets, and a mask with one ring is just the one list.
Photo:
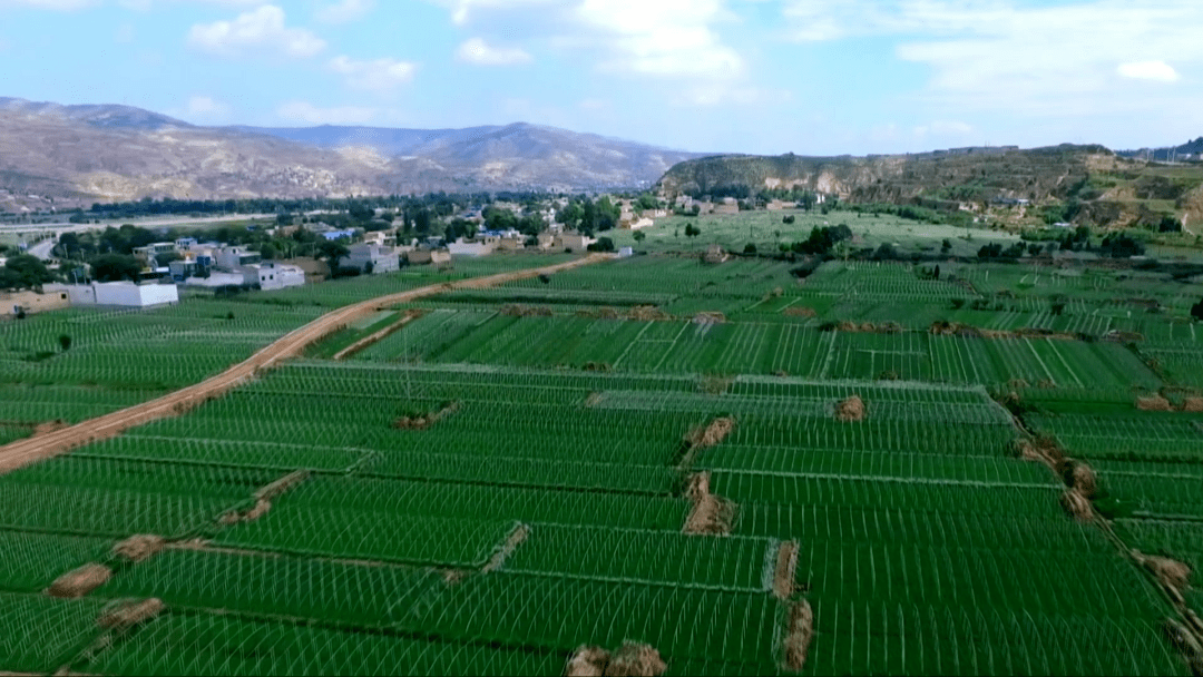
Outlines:
[[460, 130], [198, 126], [0, 97], [0, 210], [177, 197], [646, 188], [701, 154], [516, 123]]

